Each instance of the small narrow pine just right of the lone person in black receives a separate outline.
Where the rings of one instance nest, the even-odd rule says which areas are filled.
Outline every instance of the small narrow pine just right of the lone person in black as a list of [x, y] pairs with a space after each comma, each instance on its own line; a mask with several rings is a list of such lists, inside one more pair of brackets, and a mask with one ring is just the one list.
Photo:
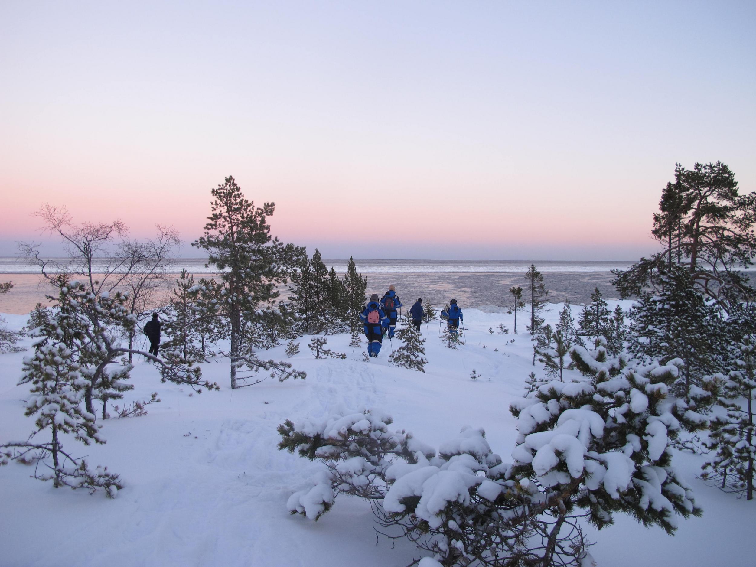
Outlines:
[[169, 299], [171, 316], [163, 324], [163, 333], [170, 338], [163, 341], [160, 349], [174, 351], [186, 362], [206, 361], [200, 333], [202, 313], [197, 307], [201, 286], [194, 283], [194, 274], [183, 268], [175, 282]]

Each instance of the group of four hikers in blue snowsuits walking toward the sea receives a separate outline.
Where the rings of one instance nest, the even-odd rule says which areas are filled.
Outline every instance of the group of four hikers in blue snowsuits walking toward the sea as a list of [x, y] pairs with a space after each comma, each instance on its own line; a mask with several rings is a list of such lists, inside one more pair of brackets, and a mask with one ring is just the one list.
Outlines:
[[[399, 308], [401, 308], [401, 301], [399, 296], [396, 295], [394, 286], [389, 286], [389, 291], [380, 299], [378, 299], [377, 293], [370, 296], [370, 301], [367, 302], [360, 314], [360, 319], [364, 324], [364, 333], [367, 337], [367, 354], [369, 356], [377, 358], [384, 334], [388, 334], [389, 339], [393, 338]], [[410, 316], [412, 324], [418, 331], [420, 331], [420, 322], [423, 321], [423, 313], [423, 299], [417, 299], [410, 308]], [[446, 324], [449, 333], [456, 336], [460, 321], [463, 321], [462, 309], [457, 305], [457, 299], [452, 299], [449, 302], [448, 311], [442, 311], [441, 314], [447, 318]]]

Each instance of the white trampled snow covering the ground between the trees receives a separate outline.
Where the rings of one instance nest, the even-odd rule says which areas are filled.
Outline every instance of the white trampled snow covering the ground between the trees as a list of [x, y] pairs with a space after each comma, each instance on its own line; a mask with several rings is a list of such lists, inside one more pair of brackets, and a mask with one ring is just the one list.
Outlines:
[[[547, 322], [554, 324], [561, 305], [549, 307]], [[20, 328], [26, 317], [5, 319]], [[500, 323], [511, 329], [512, 316], [466, 309], [467, 343], [458, 350], [438, 339], [438, 322], [423, 326], [425, 373], [389, 367], [388, 340], [380, 358], [364, 362], [359, 350], [352, 355], [347, 335], [329, 336], [327, 345], [346, 352], [346, 360], [315, 360], [308, 337], [299, 339], [300, 353], [291, 361], [307, 372], [304, 381], [267, 380], [234, 391], [225, 359], [203, 365], [206, 378], [222, 389], [202, 395], [161, 384], [157, 370], [139, 361], [126, 401], [158, 392], [160, 404], [148, 406], [144, 417], [106, 420], [107, 445], [65, 445], [91, 465], [119, 472], [125, 488], [109, 500], [30, 479], [29, 466], [0, 468], [0, 565], [407, 565], [420, 553], [407, 542], [393, 547], [376, 537], [370, 507], [361, 500], [339, 497], [318, 522], [287, 513], [287, 498], [309, 484], [318, 465], [278, 451], [276, 428], [287, 418], [373, 407], [435, 447], [461, 426], [481, 426], [491, 448], [510, 461], [516, 438], [510, 402], [522, 395], [531, 370], [538, 376], [543, 370], [531, 364], [525, 315], [518, 318], [519, 335], [496, 334]], [[286, 358], [284, 349], [271, 349], [266, 358]], [[23, 356], [0, 355], [0, 442], [24, 439], [33, 429], [33, 420], [23, 417], [28, 386], [16, 385]], [[473, 369], [482, 376], [475, 381]], [[681, 520], [674, 537], [616, 516], [612, 527], [597, 534], [589, 529], [599, 565], [754, 564], [749, 534], [756, 503], [697, 479], [702, 458], [675, 454], [704, 516]]]

